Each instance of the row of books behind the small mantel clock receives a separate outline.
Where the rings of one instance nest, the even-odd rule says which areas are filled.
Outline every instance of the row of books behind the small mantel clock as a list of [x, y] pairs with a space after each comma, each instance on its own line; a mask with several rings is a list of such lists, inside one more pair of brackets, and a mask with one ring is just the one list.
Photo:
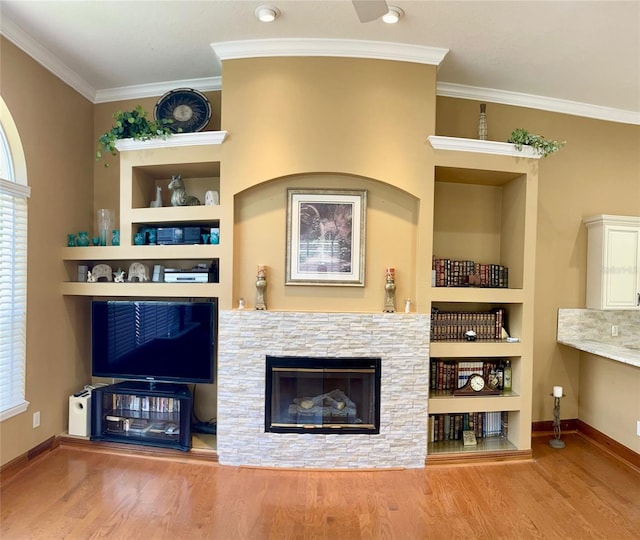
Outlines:
[[462, 388], [469, 377], [480, 373], [486, 381], [495, 381], [496, 388], [502, 386], [504, 360], [442, 360], [432, 358], [429, 365], [429, 388], [431, 390], [455, 390]]

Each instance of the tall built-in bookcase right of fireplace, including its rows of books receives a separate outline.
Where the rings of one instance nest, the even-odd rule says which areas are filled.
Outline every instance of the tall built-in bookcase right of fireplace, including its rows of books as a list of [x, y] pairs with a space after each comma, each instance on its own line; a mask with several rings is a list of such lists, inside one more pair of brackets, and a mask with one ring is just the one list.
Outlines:
[[[538, 156], [505, 143], [429, 141], [434, 202], [427, 464], [529, 458]], [[470, 371], [493, 384], [507, 361], [511, 389], [456, 392]], [[473, 444], [465, 444], [465, 431], [473, 431]]]

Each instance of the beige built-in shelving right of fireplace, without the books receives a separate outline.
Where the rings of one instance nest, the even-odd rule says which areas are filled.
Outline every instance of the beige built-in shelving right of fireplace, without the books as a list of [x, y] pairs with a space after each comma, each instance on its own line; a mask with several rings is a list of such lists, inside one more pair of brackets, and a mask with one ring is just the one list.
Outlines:
[[453, 396], [431, 391], [430, 415], [505, 412], [507, 435], [430, 442], [427, 464], [476, 459], [526, 458], [531, 455], [533, 373], [533, 287], [537, 167], [532, 148], [453, 137], [429, 137], [434, 149], [435, 258], [473, 260], [508, 267], [508, 288], [431, 287], [432, 309], [489, 311], [502, 308], [505, 329], [517, 342], [432, 341], [431, 358], [506, 360], [513, 387], [500, 395]]

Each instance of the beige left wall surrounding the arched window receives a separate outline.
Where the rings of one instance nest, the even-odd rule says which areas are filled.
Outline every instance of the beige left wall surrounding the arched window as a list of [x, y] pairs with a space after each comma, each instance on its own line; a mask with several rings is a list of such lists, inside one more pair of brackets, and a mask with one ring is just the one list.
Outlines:
[[[4, 38], [0, 91], [27, 162], [26, 413], [0, 424], [2, 463], [67, 429], [68, 396], [90, 375], [83, 302], [60, 295], [60, 248], [70, 232], [91, 227], [93, 105]], [[32, 427], [35, 411], [41, 425]]]

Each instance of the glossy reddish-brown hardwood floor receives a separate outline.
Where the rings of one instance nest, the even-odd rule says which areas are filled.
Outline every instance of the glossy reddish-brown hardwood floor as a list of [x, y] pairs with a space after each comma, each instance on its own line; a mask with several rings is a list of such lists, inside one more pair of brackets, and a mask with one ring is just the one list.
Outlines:
[[1, 490], [2, 540], [638, 538], [640, 471], [576, 433], [531, 461], [291, 471], [62, 446]]

